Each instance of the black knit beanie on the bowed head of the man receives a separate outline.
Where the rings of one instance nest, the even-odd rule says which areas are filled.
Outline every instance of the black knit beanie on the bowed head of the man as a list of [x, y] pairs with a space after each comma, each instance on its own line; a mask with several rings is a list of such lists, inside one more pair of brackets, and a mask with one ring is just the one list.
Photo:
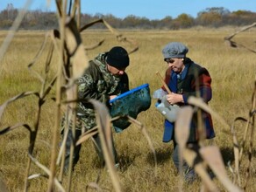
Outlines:
[[115, 46], [108, 52], [107, 64], [116, 67], [117, 69], [124, 69], [129, 65], [130, 59], [128, 52], [121, 46]]

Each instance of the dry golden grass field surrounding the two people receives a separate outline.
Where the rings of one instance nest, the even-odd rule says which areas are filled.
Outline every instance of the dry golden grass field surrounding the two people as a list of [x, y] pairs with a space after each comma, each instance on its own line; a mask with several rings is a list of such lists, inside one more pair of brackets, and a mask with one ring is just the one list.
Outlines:
[[[252, 92], [256, 75], [256, 54], [244, 48], [231, 48], [224, 44], [224, 37], [233, 33], [235, 29], [193, 29], [187, 31], [121, 31], [127, 38], [134, 39], [139, 44], [139, 51], [131, 54], [131, 65], [127, 68], [130, 76], [130, 87], [148, 83], [151, 93], [161, 86], [156, 72], [162, 76], [166, 70], [161, 49], [172, 41], [179, 41], [188, 45], [188, 57], [196, 63], [205, 66], [212, 77], [213, 99], [210, 107], [217, 112], [231, 126], [237, 117], [248, 118], [252, 106]], [[0, 61], [0, 105], [5, 100], [27, 91], [39, 91], [39, 79], [28, 69], [27, 65], [35, 57], [40, 45], [44, 41], [46, 31], [18, 31], [11, 41], [8, 51]], [[7, 31], [0, 31], [0, 45], [2, 45]], [[109, 31], [82, 32], [83, 45], [93, 45], [102, 39], [103, 45], [95, 50], [87, 51], [89, 58], [94, 58], [100, 51], [108, 51], [113, 45], [122, 45], [130, 50], [130, 45], [117, 42]], [[255, 50], [256, 31], [246, 31], [239, 34], [235, 40], [240, 44]], [[50, 39], [49, 39], [50, 41]], [[47, 47], [48, 45], [46, 45]], [[47, 49], [46, 49], [47, 50]], [[56, 53], [56, 52], [54, 52]], [[50, 75], [56, 72], [59, 60], [53, 55]], [[39, 73], [44, 70], [46, 51], [32, 67]], [[42, 107], [39, 135], [34, 149], [34, 156], [49, 167], [52, 142], [53, 123], [55, 114], [55, 88], [48, 95]], [[157, 156], [155, 175], [154, 159], [146, 137], [139, 127], [132, 124], [123, 133], [114, 134], [117, 153], [121, 168], [117, 171], [124, 191], [178, 191], [179, 175], [171, 159], [172, 143], [163, 143], [163, 117], [152, 106], [146, 112], [139, 113], [137, 120], [142, 122], [149, 134]], [[254, 109], [255, 110], [255, 109]], [[7, 106], [0, 121], [0, 130], [18, 122], [32, 125], [37, 112], [37, 98], [34, 96], [18, 99]], [[255, 115], [254, 115], [255, 116]], [[231, 130], [224, 127], [217, 119], [214, 127], [217, 137], [211, 141], [220, 148], [226, 166], [227, 174], [232, 179], [231, 168], [234, 168], [233, 144]], [[255, 122], [254, 122], [255, 123]], [[238, 122], [238, 141], [242, 141], [245, 123]], [[255, 128], [255, 126], [254, 126]], [[251, 134], [251, 133], [250, 133]], [[248, 166], [249, 135], [245, 143], [245, 153], [241, 161], [241, 187], [245, 184], [246, 168]], [[255, 141], [255, 136], [254, 136]], [[23, 191], [25, 169], [28, 161], [29, 134], [24, 128], [16, 129], [0, 136], [0, 177], [8, 189], [13, 192]], [[255, 145], [255, 143], [254, 143]], [[250, 180], [246, 191], [256, 190], [256, 150], [252, 150], [252, 164]], [[106, 168], [100, 168], [96, 152], [91, 141], [82, 144], [81, 159], [75, 167], [71, 191], [86, 191], [90, 182], [96, 182], [101, 171], [98, 185], [103, 191], [113, 191], [110, 175]], [[42, 173], [42, 170], [32, 164], [31, 174]], [[65, 186], [64, 178], [64, 186]], [[220, 191], [226, 191], [223, 184], [214, 180]], [[200, 191], [201, 181], [183, 185], [184, 191]], [[47, 179], [36, 178], [29, 181], [28, 191], [46, 191]], [[88, 189], [95, 191], [95, 189]]]

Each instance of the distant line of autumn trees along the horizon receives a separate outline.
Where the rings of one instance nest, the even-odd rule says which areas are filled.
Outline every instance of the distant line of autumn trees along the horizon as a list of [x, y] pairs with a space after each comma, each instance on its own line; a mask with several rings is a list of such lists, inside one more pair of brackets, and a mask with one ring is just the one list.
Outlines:
[[[11, 27], [15, 18], [18, 16], [18, 9], [8, 6], [0, 12], [0, 30], [7, 30]], [[162, 19], [148, 19], [129, 15], [124, 18], [115, 17], [111, 14], [103, 15], [97, 13], [90, 15], [81, 14], [81, 24], [89, 24], [97, 19], [105, 19], [116, 29], [145, 29], [145, 30], [179, 30], [188, 29], [196, 26], [204, 27], [223, 27], [243, 26], [252, 24], [256, 21], [256, 12], [248, 10], [230, 11], [224, 7], [212, 7], [197, 13], [196, 17], [191, 17], [182, 13], [178, 17], [167, 16]], [[23, 30], [49, 30], [58, 28], [56, 13], [53, 11], [29, 10], [20, 24]], [[103, 24], [91, 26], [93, 29], [105, 29]]]

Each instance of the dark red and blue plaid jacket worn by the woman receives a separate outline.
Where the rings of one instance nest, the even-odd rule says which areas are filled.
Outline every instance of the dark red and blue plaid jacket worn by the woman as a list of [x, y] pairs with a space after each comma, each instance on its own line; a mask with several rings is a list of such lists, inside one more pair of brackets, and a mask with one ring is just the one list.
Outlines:
[[[177, 78], [177, 74], [167, 69], [165, 82], [173, 93], [181, 93], [184, 99], [184, 104], [188, 105], [188, 98], [190, 96], [196, 96], [196, 91], [199, 91], [200, 97], [208, 104], [212, 97], [211, 93], [211, 78], [209, 72], [200, 65], [197, 65], [189, 58], [185, 58], [185, 69], [181, 73], [181, 79]], [[197, 88], [198, 87], [198, 88]], [[164, 87], [162, 87], [164, 89]], [[213, 124], [210, 113], [203, 111], [203, 126], [205, 127], [205, 137], [211, 139], [215, 137]], [[165, 130], [163, 135], [163, 141], [168, 142], [174, 139], [174, 123], [165, 120]], [[190, 134], [188, 142], [198, 141], [197, 131], [197, 113], [194, 113], [191, 124]]]

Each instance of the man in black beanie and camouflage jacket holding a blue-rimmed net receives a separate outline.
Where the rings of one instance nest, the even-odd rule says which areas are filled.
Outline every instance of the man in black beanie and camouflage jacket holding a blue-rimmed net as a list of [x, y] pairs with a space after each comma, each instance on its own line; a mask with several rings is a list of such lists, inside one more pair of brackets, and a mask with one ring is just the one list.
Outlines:
[[[130, 63], [128, 52], [121, 46], [114, 46], [110, 51], [102, 52], [93, 60], [89, 61], [89, 67], [85, 70], [82, 77], [77, 80], [78, 99], [96, 99], [106, 106], [110, 107], [110, 99], [114, 99], [117, 95], [129, 91], [129, 79], [125, 71]], [[86, 130], [96, 127], [95, 110], [91, 104], [86, 101], [78, 102], [77, 105], [77, 122], [75, 124], [75, 141], [82, 134], [82, 127]], [[64, 122], [65, 117], [62, 119]], [[64, 123], [61, 125], [62, 134]], [[64, 170], [68, 171], [69, 156], [72, 139], [71, 129], [68, 131], [68, 140], [66, 142], [66, 156], [64, 162]], [[96, 152], [100, 162], [104, 165], [103, 150], [100, 143], [99, 135], [93, 136], [96, 141]], [[118, 167], [117, 151], [113, 146], [114, 160]], [[79, 160], [81, 145], [75, 146], [73, 155], [73, 168]]]

